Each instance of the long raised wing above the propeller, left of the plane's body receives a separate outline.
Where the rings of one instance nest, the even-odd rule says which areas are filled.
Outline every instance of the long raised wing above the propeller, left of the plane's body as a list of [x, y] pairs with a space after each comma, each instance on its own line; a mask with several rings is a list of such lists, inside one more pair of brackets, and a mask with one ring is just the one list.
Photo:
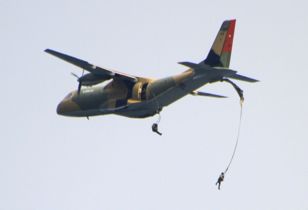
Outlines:
[[138, 81], [137, 77], [130, 76], [128, 74], [124, 74], [124, 73], [120, 73], [120, 72], [116, 72], [116, 71], [113, 71], [113, 70], [110, 70], [110, 69], [106, 69], [106, 68], [100, 67], [98, 65], [91, 64], [87, 61], [83, 61], [83, 60], [80, 60], [78, 58], [75, 58], [75, 57], [72, 57], [72, 56], [69, 56], [69, 55], [66, 55], [66, 54], [63, 54], [63, 53], [56, 52], [54, 50], [46, 49], [46, 50], [44, 50], [44, 52], [49, 53], [49, 54], [51, 54], [55, 57], [58, 57], [58, 58], [60, 58], [64, 61], [67, 61], [67, 62], [69, 62], [69, 63], [71, 63], [75, 66], [78, 66], [79, 68], [85, 69], [88, 72], [93, 73], [93, 74], [98, 74], [98, 75], [103, 75], [103, 76], [110, 75], [113, 79], [129, 80], [129, 81], [132, 81], [132, 82]]

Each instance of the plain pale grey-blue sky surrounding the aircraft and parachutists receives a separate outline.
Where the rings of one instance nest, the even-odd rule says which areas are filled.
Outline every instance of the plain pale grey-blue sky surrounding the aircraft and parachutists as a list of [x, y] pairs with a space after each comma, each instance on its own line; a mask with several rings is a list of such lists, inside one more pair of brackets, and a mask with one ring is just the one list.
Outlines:
[[[306, 1], [1, 1], [3, 209], [307, 208]], [[82, 69], [50, 48], [134, 76], [203, 60], [237, 19], [230, 68], [259, 83], [200, 89], [157, 116], [58, 116]]]

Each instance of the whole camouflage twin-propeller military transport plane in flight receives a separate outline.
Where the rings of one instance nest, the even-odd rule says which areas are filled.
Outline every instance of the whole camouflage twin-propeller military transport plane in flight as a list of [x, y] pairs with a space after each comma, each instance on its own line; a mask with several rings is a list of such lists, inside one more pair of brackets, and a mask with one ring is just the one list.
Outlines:
[[[224, 77], [257, 82], [229, 69], [234, 28], [235, 20], [224, 21], [204, 61], [198, 64], [179, 62], [189, 69], [162, 79], [131, 76], [47, 49], [45, 52], [90, 72], [80, 78], [72, 73], [78, 77], [78, 89], [69, 93], [59, 103], [57, 113], [87, 118], [105, 114], [145, 118], [154, 116], [163, 107], [188, 94], [224, 97], [196, 91], [201, 86], [221, 81]], [[106, 86], [92, 87], [107, 80], [111, 81]], [[88, 88], [81, 89], [81, 86]]]

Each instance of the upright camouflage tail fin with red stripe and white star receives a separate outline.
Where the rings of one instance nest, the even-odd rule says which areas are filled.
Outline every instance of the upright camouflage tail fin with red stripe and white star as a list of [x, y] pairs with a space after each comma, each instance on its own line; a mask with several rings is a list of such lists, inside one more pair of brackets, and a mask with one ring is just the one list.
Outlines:
[[199, 64], [229, 68], [235, 21], [226, 20], [222, 23], [208, 56]]

